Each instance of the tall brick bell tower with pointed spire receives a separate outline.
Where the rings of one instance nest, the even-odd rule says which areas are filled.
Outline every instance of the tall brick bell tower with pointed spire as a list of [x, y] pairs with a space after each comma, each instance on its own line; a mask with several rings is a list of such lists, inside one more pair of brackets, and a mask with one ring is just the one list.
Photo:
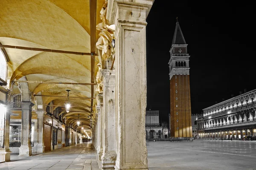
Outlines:
[[170, 137], [192, 137], [190, 84], [189, 84], [189, 54], [187, 44], [177, 20], [169, 51], [170, 68]]

